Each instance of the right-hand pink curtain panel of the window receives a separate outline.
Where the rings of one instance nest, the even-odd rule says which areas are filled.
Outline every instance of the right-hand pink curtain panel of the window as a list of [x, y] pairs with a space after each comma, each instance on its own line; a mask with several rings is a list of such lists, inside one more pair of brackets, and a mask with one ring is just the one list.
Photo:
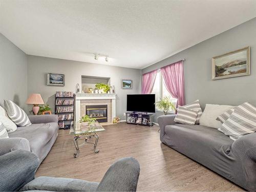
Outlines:
[[170, 95], [177, 98], [177, 106], [185, 104], [183, 61], [161, 68], [164, 84]]

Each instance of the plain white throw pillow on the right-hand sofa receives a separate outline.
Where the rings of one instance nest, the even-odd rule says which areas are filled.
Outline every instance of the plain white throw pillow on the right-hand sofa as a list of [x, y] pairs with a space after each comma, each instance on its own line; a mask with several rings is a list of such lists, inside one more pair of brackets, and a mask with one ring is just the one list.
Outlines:
[[219, 129], [221, 122], [216, 118], [224, 112], [234, 108], [231, 105], [219, 105], [219, 104], [206, 104], [203, 114], [201, 115], [199, 124], [203, 126], [213, 127]]

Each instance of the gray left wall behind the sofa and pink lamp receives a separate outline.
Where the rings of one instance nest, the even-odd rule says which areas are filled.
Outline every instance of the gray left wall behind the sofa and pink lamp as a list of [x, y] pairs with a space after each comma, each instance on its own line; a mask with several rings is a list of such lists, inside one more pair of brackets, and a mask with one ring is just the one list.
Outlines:
[[0, 33], [0, 105], [10, 99], [27, 111], [27, 55]]

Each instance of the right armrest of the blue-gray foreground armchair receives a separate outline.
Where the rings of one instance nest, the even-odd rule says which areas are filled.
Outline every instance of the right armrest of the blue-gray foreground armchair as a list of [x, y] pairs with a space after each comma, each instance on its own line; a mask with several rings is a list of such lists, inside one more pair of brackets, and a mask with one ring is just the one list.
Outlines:
[[139, 174], [140, 164], [136, 159], [122, 158], [110, 166], [97, 191], [136, 191]]

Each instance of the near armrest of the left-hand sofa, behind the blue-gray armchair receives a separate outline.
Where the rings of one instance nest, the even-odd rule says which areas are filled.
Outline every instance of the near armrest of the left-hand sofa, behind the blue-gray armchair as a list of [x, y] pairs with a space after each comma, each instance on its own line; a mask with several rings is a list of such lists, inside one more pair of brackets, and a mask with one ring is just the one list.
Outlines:
[[0, 156], [17, 150], [30, 151], [29, 141], [25, 138], [14, 137], [0, 139], [0, 146]]

